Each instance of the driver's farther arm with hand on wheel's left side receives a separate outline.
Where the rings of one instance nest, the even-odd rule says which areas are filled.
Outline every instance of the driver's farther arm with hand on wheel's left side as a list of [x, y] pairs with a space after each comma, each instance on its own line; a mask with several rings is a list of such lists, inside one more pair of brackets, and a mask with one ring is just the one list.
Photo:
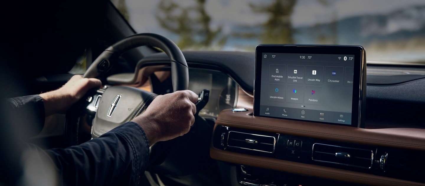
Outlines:
[[77, 102], [87, 90], [100, 87], [99, 79], [73, 76], [64, 86], [40, 95], [22, 96], [7, 99], [8, 116], [19, 125], [19, 132], [24, 138], [40, 133], [44, 127], [45, 117], [54, 113], [65, 113]]

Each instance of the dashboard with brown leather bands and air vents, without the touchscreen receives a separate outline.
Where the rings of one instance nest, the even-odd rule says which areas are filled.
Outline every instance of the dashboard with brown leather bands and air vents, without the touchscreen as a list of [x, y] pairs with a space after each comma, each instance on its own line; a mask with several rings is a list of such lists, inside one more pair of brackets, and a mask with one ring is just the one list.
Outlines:
[[[216, 87], [209, 108], [220, 109], [204, 116], [217, 116], [210, 157], [226, 175], [225, 185], [425, 184], [420, 168], [425, 166], [425, 126], [416, 114], [425, 107], [423, 68], [368, 66], [365, 128], [356, 128], [253, 116], [255, 54], [184, 55], [190, 69], [200, 72], [190, 76], [191, 89]], [[144, 60], [165, 62], [167, 56]], [[233, 105], [223, 93], [229, 90], [235, 93]], [[223, 102], [229, 109], [222, 110]], [[247, 111], [230, 110], [235, 106]]]

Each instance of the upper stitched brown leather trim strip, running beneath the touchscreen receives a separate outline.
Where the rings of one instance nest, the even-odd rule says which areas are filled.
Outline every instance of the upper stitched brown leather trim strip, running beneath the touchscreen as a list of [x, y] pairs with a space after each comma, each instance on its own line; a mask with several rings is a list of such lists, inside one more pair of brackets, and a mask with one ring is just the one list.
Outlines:
[[[355, 127], [317, 124], [303, 121], [283, 121], [280, 119], [254, 117], [249, 116], [246, 113], [241, 114], [231, 112], [230, 110], [224, 110], [218, 116], [216, 124], [227, 127], [278, 132], [282, 134], [300, 135], [311, 138], [346, 141], [351, 143], [355, 142], [386, 147], [425, 150], [425, 130], [423, 129], [359, 129]], [[302, 127], [300, 127], [301, 125]], [[309, 130], [311, 128], [316, 130]], [[329, 131], [332, 131], [332, 133]]]

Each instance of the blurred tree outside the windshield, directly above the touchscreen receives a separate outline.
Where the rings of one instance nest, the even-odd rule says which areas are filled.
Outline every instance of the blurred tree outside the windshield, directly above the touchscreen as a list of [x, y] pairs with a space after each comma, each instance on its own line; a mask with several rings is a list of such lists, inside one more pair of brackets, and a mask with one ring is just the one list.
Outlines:
[[291, 15], [294, 11], [297, 0], [273, 0], [272, 3], [259, 4], [249, 3], [251, 10], [258, 14], [267, 14], [268, 18], [262, 23], [263, 33], [244, 33], [244, 37], [259, 37], [262, 43], [266, 44], [292, 44], [293, 28]]

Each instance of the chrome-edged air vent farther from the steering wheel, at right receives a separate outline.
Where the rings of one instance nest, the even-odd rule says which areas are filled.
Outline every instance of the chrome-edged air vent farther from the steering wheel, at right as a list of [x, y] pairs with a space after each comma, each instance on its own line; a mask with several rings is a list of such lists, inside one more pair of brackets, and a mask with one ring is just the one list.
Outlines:
[[314, 161], [370, 169], [373, 156], [373, 151], [367, 149], [313, 144], [312, 159]]

